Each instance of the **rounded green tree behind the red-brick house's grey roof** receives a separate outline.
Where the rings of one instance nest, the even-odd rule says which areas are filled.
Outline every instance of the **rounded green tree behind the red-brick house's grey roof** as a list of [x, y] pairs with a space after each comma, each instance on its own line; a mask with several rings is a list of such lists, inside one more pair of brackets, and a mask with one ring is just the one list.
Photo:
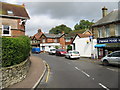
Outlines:
[[64, 31], [65, 34], [68, 34], [69, 32], [72, 31], [72, 29], [67, 27], [66, 25], [62, 24], [62, 25], [56, 26], [55, 28], [52, 28], [51, 30], [49, 30], [49, 33], [50, 34], [59, 34], [59, 33], [62, 33], [62, 31]]

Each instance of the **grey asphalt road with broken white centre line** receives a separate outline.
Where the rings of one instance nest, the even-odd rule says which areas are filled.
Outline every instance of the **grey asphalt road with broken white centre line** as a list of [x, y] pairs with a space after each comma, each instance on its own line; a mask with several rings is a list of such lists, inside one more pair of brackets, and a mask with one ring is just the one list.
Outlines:
[[103, 66], [97, 61], [81, 58], [69, 60], [64, 57], [36, 54], [45, 60], [50, 70], [37, 88], [118, 88], [119, 69]]

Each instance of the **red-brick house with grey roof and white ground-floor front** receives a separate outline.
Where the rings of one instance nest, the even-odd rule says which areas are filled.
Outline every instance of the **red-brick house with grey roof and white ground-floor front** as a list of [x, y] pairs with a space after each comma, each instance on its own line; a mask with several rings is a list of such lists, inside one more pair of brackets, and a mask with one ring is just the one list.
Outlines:
[[40, 48], [42, 51], [49, 51], [50, 48], [65, 49], [64, 32], [62, 34], [48, 34], [44, 33], [40, 37]]

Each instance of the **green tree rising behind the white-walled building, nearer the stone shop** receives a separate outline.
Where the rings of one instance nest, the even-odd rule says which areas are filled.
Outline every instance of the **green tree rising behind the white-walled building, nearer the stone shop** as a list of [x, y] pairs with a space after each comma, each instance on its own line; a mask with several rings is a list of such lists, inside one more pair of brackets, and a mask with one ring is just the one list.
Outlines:
[[94, 24], [93, 22], [90, 22], [88, 20], [80, 20], [80, 22], [74, 26], [74, 29], [75, 30], [90, 29], [93, 24]]

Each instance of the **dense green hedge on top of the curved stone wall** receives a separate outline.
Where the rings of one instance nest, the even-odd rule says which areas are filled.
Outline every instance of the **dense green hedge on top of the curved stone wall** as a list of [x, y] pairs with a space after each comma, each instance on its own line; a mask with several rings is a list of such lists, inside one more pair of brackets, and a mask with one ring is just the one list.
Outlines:
[[16, 65], [26, 60], [30, 53], [30, 39], [2, 37], [2, 67]]

